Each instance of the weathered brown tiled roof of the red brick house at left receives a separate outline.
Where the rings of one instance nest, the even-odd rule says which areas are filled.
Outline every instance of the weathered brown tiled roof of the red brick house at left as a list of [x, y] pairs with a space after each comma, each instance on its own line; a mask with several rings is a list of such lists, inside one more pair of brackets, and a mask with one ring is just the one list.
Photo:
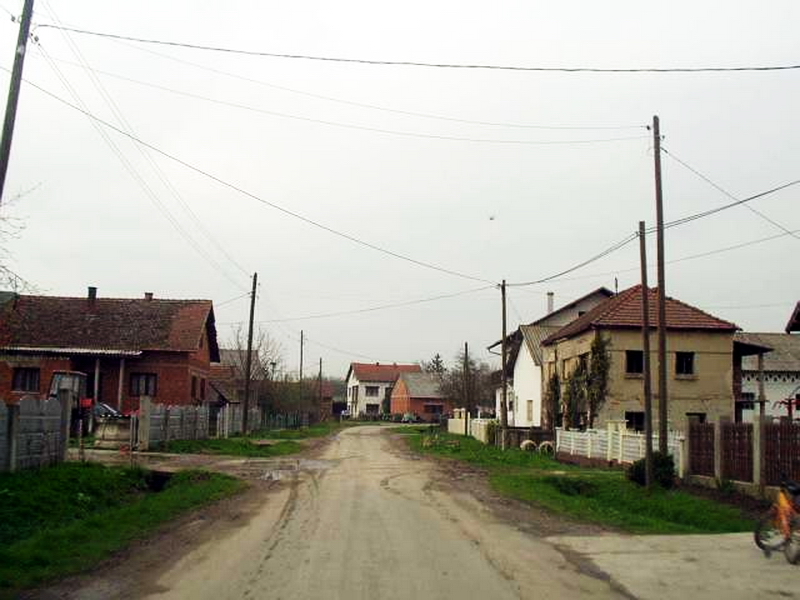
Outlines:
[[211, 300], [12, 296], [0, 306], [0, 348], [194, 352], [208, 334], [219, 361]]

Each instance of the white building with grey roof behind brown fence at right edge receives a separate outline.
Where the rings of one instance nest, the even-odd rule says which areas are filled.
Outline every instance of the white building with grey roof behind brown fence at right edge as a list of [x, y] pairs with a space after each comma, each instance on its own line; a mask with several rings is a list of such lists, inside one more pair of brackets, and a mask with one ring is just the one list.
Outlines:
[[751, 422], [760, 413], [759, 382], [763, 381], [764, 415], [785, 417], [787, 400], [794, 402], [792, 412], [800, 416], [800, 335], [788, 333], [737, 333], [739, 344], [769, 348], [763, 354], [762, 374], [756, 355], [742, 359], [741, 390], [736, 400], [736, 420]]

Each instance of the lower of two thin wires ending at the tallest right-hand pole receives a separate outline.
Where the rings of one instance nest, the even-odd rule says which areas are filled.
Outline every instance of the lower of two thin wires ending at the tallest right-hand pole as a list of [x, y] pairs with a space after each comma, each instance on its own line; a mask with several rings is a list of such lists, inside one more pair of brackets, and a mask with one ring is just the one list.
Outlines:
[[[69, 62], [69, 61], [65, 61]], [[126, 77], [124, 75], [117, 75], [115, 73], [109, 73], [108, 71], [97, 71], [103, 75], [108, 77], [114, 77], [116, 79], [120, 79], [122, 81], [127, 81], [129, 83], [134, 83], [137, 85], [146, 86], [149, 88], [161, 90], [164, 92], [169, 92], [171, 94], [176, 94], [178, 96], [183, 96], [185, 98], [193, 98], [195, 100], [202, 100], [204, 102], [210, 102], [212, 104], [218, 104], [221, 106], [228, 106], [231, 108], [237, 108], [240, 110], [247, 110], [250, 112], [256, 112], [264, 115], [269, 115], [271, 117], [278, 117], [282, 119], [291, 119], [295, 121], [303, 121], [306, 123], [315, 123], [318, 125], [327, 125], [331, 127], [340, 127], [344, 129], [355, 129], [359, 131], [369, 131], [372, 133], [381, 133], [386, 135], [395, 135], [400, 137], [411, 137], [411, 138], [422, 138], [422, 139], [434, 139], [434, 140], [444, 140], [444, 141], [452, 141], [452, 142], [470, 142], [470, 143], [479, 143], [479, 144], [512, 144], [512, 145], [526, 145], [526, 146], [563, 146], [563, 145], [586, 145], [586, 144], [603, 144], [609, 142], [623, 142], [623, 141], [630, 141], [630, 140], [641, 140], [647, 139], [648, 136], [642, 135], [633, 135], [633, 136], [617, 136], [617, 137], [606, 137], [606, 138], [589, 138], [589, 139], [578, 139], [578, 140], [520, 140], [520, 139], [496, 139], [496, 138], [475, 138], [475, 137], [464, 137], [464, 136], [457, 136], [457, 135], [439, 135], [434, 133], [421, 133], [416, 131], [401, 131], [395, 129], [385, 129], [381, 127], [370, 127], [367, 125], [357, 125], [354, 123], [342, 123], [339, 121], [330, 121], [327, 119], [318, 119], [315, 117], [305, 117], [302, 115], [295, 115], [291, 113], [284, 113], [274, 110], [268, 110], [265, 108], [259, 108], [257, 106], [251, 106], [248, 104], [242, 104], [239, 102], [232, 102], [229, 100], [220, 100], [217, 98], [210, 98], [208, 96], [204, 96], [202, 94], [195, 94], [192, 92], [187, 92], [183, 90], [176, 90], [174, 88], [170, 88], [167, 86], [159, 85], [157, 83], [150, 83], [146, 81], [141, 81], [139, 79], [133, 79], [130, 77]]]

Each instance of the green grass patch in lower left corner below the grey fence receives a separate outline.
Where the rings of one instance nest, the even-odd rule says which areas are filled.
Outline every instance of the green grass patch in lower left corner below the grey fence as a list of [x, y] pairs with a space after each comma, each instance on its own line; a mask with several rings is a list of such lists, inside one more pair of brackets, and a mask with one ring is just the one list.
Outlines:
[[84, 571], [163, 522], [246, 485], [185, 471], [154, 492], [151, 477], [93, 463], [0, 474], [0, 598]]

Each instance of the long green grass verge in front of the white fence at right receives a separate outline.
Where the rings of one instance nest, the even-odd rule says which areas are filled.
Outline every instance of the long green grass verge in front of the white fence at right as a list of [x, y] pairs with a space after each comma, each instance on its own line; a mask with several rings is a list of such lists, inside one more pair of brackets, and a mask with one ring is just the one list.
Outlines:
[[752, 531], [754, 526], [741, 511], [680, 489], [647, 493], [616, 469], [565, 465], [449, 434], [417, 434], [409, 443], [419, 452], [486, 469], [491, 486], [505, 496], [630, 533], [728, 533]]

